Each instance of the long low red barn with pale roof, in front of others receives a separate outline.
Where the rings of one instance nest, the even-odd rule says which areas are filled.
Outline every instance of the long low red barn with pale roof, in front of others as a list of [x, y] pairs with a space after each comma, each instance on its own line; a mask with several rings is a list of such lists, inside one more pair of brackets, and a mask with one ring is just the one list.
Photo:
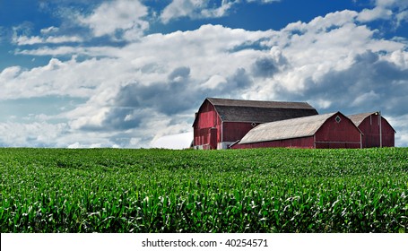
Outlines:
[[231, 148], [361, 148], [360, 129], [341, 112], [257, 125]]

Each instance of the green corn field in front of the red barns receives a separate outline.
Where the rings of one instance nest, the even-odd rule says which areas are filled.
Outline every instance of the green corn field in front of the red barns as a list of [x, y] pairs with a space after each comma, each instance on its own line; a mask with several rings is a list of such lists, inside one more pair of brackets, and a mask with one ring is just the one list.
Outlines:
[[0, 231], [408, 232], [408, 149], [0, 149]]

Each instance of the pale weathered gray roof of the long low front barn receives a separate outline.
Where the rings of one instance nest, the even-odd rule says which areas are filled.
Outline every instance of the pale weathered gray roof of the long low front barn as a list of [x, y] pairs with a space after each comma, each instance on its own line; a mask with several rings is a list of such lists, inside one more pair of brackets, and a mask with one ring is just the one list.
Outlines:
[[341, 114], [340, 112], [335, 112], [257, 125], [239, 143], [259, 143], [312, 136], [316, 134], [317, 130], [328, 118], [338, 113]]

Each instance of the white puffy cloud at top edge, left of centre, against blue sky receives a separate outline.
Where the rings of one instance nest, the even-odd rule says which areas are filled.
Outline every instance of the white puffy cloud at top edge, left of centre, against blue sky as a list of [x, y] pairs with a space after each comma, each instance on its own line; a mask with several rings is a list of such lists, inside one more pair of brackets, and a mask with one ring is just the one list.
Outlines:
[[[138, 0], [115, 0], [100, 4], [90, 15], [79, 15], [78, 21], [88, 26], [94, 36], [115, 36], [117, 31], [134, 32], [139, 36], [149, 28], [149, 22], [143, 20], [148, 14], [146, 6]], [[127, 35], [134, 39], [132, 36]]]

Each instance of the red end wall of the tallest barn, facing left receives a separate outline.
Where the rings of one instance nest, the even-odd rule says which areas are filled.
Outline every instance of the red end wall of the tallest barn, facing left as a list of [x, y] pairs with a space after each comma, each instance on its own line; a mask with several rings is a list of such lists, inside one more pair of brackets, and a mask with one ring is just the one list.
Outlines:
[[[213, 105], [209, 101], [205, 101], [197, 113], [196, 123], [194, 125], [194, 146], [202, 146], [203, 149], [210, 149], [212, 139], [211, 128], [215, 127], [217, 130], [216, 138], [219, 139], [221, 132], [221, 119], [218, 117]], [[213, 136], [214, 137], [214, 136]]]

